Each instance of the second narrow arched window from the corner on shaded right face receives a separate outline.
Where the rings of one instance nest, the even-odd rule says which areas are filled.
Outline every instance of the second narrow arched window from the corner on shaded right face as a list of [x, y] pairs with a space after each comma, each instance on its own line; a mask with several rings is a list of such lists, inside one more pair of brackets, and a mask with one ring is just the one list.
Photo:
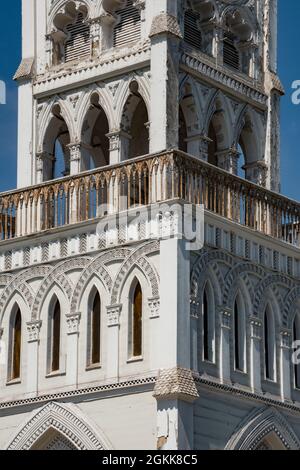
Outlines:
[[234, 302], [234, 367], [235, 370], [245, 372], [246, 350], [246, 324], [245, 308], [240, 294]]

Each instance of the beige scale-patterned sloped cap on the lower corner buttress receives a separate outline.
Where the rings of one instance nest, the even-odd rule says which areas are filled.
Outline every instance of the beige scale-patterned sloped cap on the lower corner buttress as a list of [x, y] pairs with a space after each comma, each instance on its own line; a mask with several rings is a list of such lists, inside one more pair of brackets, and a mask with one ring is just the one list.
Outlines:
[[192, 403], [199, 398], [192, 371], [174, 368], [161, 370], [158, 374], [154, 398], [156, 400], [183, 400]]

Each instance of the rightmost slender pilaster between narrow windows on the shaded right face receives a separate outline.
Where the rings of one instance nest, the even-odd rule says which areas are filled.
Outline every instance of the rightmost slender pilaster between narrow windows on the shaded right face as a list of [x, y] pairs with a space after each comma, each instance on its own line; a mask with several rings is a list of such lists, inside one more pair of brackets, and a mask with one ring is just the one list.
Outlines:
[[280, 390], [282, 401], [291, 400], [291, 341], [289, 330], [280, 332]]

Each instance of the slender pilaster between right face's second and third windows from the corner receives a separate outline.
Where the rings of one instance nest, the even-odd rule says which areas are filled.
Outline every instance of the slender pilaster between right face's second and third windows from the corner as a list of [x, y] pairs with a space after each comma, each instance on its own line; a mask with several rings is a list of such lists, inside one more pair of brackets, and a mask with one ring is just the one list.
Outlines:
[[261, 392], [261, 339], [262, 323], [258, 318], [250, 320], [250, 379], [253, 393]]

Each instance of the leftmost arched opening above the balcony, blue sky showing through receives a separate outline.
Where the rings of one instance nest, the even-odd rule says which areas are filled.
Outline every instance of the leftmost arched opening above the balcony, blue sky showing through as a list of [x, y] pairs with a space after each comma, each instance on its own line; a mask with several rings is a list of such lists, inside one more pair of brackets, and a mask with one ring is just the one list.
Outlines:
[[52, 118], [44, 137], [43, 181], [70, 174], [70, 133], [59, 105], [52, 109]]

